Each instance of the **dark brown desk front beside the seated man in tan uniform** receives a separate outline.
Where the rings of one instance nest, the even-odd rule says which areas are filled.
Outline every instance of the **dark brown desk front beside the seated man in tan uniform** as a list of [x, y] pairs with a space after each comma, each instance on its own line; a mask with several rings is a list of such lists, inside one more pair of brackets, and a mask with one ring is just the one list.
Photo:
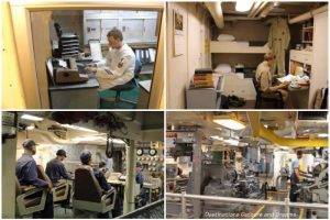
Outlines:
[[288, 101], [290, 101], [293, 109], [308, 109], [309, 86], [301, 86], [300, 88], [293, 88], [288, 86]]

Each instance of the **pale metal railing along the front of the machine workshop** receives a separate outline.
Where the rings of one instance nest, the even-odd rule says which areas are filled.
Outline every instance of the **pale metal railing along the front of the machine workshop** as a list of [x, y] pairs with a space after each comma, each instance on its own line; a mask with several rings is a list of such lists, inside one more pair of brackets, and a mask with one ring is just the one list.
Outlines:
[[290, 207], [328, 210], [328, 205], [324, 204], [290, 202], [289, 198], [285, 198], [284, 201], [275, 201], [275, 200], [242, 199], [242, 198], [233, 198], [233, 197], [201, 196], [201, 195], [193, 195], [193, 194], [185, 194], [185, 193], [182, 194], [167, 193], [166, 197], [180, 198], [182, 200], [180, 218], [183, 219], [187, 219], [187, 212], [186, 212], [187, 199], [199, 199], [199, 200], [208, 200], [208, 201], [228, 201], [230, 204], [244, 204], [244, 205], [282, 206], [285, 207], [284, 217], [286, 218], [289, 217]]

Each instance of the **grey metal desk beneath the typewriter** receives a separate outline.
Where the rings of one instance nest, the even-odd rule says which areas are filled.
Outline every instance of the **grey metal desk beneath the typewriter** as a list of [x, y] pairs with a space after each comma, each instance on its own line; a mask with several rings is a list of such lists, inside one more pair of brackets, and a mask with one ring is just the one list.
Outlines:
[[89, 78], [85, 84], [50, 86], [52, 109], [97, 109], [99, 82]]

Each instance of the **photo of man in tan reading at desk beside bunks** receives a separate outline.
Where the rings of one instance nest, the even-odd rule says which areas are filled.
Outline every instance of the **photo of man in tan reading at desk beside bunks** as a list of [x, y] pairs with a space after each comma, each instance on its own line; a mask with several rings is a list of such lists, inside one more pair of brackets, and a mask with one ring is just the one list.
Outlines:
[[167, 109], [328, 109], [328, 2], [166, 7]]

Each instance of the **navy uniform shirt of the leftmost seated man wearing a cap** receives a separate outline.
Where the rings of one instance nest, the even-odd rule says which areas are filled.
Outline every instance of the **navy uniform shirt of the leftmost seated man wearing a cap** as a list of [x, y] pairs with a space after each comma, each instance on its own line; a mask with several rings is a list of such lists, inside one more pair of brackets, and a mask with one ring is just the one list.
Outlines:
[[16, 177], [21, 185], [46, 186], [47, 183], [37, 178], [36, 163], [29, 154], [22, 154], [16, 161]]

